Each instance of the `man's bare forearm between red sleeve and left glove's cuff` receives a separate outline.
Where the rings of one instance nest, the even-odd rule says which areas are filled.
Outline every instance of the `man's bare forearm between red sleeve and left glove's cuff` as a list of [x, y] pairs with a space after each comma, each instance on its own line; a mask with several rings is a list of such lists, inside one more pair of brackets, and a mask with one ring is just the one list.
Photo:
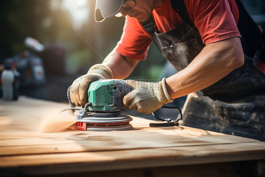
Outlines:
[[113, 50], [102, 62], [112, 70], [114, 79], [125, 79], [137, 65], [138, 60], [128, 59]]

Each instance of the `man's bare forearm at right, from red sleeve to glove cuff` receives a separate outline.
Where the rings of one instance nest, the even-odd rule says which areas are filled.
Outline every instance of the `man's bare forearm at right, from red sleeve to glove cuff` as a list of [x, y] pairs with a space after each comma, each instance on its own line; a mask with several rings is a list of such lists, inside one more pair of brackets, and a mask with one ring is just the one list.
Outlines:
[[166, 79], [171, 99], [202, 90], [244, 63], [239, 37], [206, 45], [183, 70]]

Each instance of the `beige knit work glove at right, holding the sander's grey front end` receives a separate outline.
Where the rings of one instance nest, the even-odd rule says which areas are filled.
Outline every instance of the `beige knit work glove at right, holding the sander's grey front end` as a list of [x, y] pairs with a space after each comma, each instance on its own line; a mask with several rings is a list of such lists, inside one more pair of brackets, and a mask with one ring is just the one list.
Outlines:
[[157, 83], [134, 80], [126, 80], [125, 82], [134, 90], [123, 97], [123, 104], [138, 112], [149, 114], [162, 107], [163, 104], [173, 101], [166, 90], [165, 78]]

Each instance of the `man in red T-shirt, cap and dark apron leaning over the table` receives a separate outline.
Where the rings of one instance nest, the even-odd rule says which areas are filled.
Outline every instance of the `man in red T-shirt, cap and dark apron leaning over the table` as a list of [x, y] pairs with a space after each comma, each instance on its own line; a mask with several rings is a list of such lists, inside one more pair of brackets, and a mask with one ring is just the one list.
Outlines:
[[87, 102], [90, 82], [128, 77], [153, 41], [179, 72], [155, 86], [126, 81], [134, 87], [126, 106], [151, 113], [190, 94], [182, 125], [265, 141], [262, 30], [239, 0], [97, 0], [96, 21], [118, 13], [126, 16], [121, 40], [73, 82], [73, 103]]

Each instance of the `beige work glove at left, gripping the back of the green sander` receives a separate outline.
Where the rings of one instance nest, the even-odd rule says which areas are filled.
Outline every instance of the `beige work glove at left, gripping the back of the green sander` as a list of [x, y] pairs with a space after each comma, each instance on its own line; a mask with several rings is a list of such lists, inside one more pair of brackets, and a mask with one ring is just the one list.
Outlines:
[[91, 82], [112, 79], [112, 71], [102, 64], [93, 65], [88, 73], [75, 79], [70, 89], [70, 98], [76, 106], [84, 106], [88, 103], [87, 90]]

